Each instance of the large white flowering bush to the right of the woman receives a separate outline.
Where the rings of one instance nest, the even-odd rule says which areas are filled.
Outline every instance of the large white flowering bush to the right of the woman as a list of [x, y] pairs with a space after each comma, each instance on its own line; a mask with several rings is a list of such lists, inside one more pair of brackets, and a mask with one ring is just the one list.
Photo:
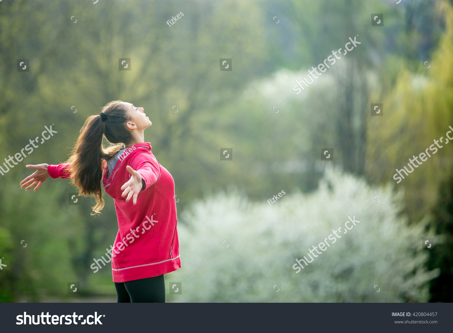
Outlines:
[[[400, 200], [328, 169], [317, 191], [287, 192], [272, 205], [236, 191], [194, 202], [178, 222], [182, 268], [166, 276], [182, 282], [183, 294], [168, 301], [426, 302], [438, 275], [424, 268], [421, 238], [429, 235], [423, 221], [398, 216]], [[348, 215], [360, 223], [294, 270]]]

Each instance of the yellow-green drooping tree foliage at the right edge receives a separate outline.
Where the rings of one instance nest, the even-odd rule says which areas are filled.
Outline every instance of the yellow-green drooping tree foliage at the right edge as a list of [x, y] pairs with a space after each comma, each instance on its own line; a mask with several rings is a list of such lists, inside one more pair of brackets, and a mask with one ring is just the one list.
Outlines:
[[[448, 126], [453, 126], [453, 11], [446, 3], [441, 9], [446, 32], [429, 62], [430, 69], [420, 62], [414, 73], [402, 61], [395, 64], [395, 59], [389, 58], [385, 79], [395, 80], [394, 88], [381, 95], [376, 89], [372, 95], [374, 100], [381, 96], [385, 111], [384, 117], [371, 117], [368, 122], [367, 178], [371, 182], [394, 182], [395, 168], [401, 169], [413, 155], [424, 152], [434, 139], [445, 138]], [[405, 211], [410, 220], [420, 220], [436, 202], [439, 183], [450, 172], [452, 149], [444, 144], [396, 185], [405, 187]]]

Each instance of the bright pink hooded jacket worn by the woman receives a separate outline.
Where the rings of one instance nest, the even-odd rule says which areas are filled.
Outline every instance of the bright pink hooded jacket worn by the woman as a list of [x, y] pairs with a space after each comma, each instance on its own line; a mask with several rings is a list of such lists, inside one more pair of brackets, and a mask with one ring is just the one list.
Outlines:
[[[137, 143], [128, 148], [109, 178], [104, 164], [102, 182], [106, 193], [115, 201], [119, 227], [111, 249], [113, 282], [150, 278], [180, 268], [174, 181], [169, 171], [157, 162], [151, 144]], [[135, 206], [132, 198], [126, 202], [126, 197], [121, 197], [121, 186], [130, 179], [128, 165], [146, 183]], [[66, 166], [49, 165], [48, 173], [52, 178], [70, 178]]]

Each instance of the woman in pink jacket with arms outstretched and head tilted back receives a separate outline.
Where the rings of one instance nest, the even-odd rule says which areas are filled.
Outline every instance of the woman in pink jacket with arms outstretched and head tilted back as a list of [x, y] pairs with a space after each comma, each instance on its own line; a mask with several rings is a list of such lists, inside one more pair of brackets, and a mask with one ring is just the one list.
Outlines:
[[[95, 197], [93, 215], [104, 206], [102, 181], [118, 218], [107, 258], [121, 303], [165, 302], [164, 274], [181, 267], [174, 181], [145, 142], [143, 132], [149, 126], [143, 108], [120, 100], [107, 103], [99, 115], [87, 119], [66, 163], [27, 165], [37, 170], [20, 182], [25, 191], [35, 185], [36, 191], [49, 176], [70, 178], [79, 195]], [[104, 135], [117, 145], [104, 149]]]

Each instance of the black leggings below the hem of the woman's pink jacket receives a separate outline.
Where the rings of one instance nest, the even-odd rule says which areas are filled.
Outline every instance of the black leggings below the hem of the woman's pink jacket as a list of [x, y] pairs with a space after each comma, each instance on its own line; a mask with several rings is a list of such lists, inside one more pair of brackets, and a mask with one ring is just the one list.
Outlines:
[[165, 303], [164, 275], [115, 282], [117, 303]]

